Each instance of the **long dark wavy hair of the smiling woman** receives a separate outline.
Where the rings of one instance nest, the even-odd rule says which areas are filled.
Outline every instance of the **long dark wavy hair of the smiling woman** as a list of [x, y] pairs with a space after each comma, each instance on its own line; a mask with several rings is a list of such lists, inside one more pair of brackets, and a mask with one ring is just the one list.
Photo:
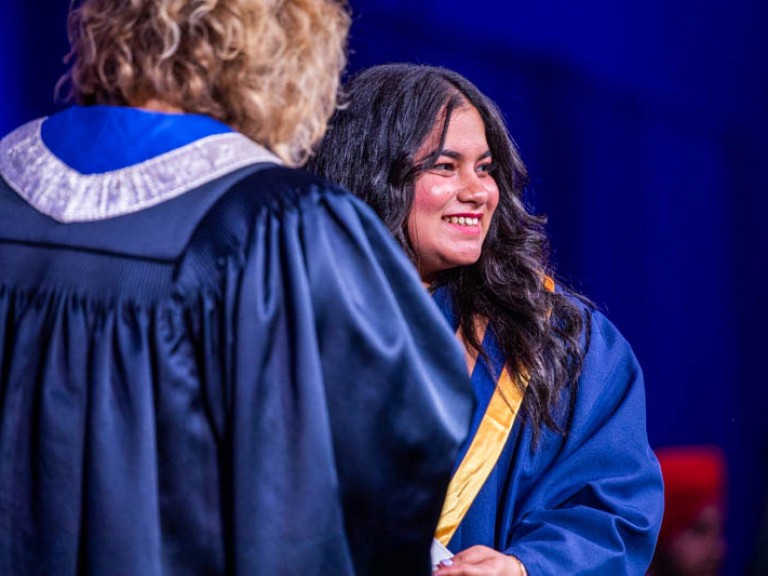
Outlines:
[[[370, 204], [417, 265], [407, 229], [416, 176], [440, 156], [457, 107], [469, 104], [480, 113], [499, 204], [480, 259], [443, 272], [433, 287], [448, 286], [465, 341], [481, 358], [488, 360], [478, 318], [489, 321], [510, 371], [529, 374], [523, 412], [536, 436], [542, 426], [562, 432], [555, 408], [581, 370], [584, 312], [572, 293], [545, 286], [545, 277], [553, 276], [546, 219], [526, 210], [528, 173], [498, 108], [461, 75], [415, 64], [369, 68], [344, 91], [344, 103], [307, 167]], [[441, 122], [440, 146], [417, 158]]]

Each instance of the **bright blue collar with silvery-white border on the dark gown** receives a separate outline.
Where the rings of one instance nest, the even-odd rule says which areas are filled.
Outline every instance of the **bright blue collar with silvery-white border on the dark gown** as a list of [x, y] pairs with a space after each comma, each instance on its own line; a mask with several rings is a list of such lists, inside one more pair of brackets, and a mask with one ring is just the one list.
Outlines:
[[75, 106], [0, 140], [0, 175], [59, 222], [130, 214], [245, 166], [281, 161], [206, 116]]

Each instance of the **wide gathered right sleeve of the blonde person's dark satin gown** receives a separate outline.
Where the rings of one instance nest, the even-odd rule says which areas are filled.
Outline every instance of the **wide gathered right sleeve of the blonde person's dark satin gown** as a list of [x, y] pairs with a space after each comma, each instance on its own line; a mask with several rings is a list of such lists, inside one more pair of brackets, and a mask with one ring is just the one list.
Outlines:
[[430, 574], [473, 404], [461, 351], [367, 206], [269, 172], [203, 226], [230, 255], [192, 266], [225, 278], [225, 318], [209, 323], [230, 328], [209, 347], [226, 380], [234, 572]]

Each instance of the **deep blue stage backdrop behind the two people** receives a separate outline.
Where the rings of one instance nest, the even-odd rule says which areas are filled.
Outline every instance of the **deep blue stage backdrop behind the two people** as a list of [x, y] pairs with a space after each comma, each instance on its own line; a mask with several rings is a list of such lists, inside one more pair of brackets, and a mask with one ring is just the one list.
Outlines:
[[[0, 134], [59, 104], [66, 0], [0, 20]], [[768, 3], [352, 0], [350, 71], [455, 68], [494, 98], [561, 275], [644, 367], [654, 447], [730, 467], [727, 574], [756, 553], [768, 477]]]

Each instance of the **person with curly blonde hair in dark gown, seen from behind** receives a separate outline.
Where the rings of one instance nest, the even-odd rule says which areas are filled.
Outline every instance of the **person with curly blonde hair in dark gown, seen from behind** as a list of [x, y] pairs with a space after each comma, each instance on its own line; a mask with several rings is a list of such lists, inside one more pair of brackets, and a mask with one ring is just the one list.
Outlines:
[[296, 168], [334, 0], [83, 0], [77, 104], [0, 140], [0, 574], [429, 574], [453, 334]]

